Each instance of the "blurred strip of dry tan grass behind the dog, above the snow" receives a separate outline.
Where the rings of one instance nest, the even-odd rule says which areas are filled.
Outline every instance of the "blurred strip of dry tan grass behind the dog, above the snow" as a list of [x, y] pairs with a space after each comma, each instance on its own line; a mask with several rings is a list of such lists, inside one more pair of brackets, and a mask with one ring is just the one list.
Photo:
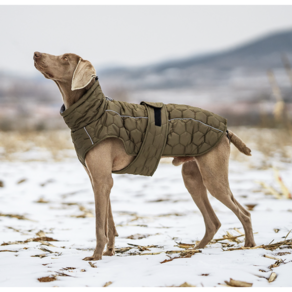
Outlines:
[[[292, 161], [292, 135], [287, 129], [232, 127], [234, 131], [252, 150], [260, 151], [262, 162], [269, 163], [269, 158], [278, 157], [285, 162]], [[72, 156], [74, 150], [69, 130], [0, 132], [0, 160], [15, 160], [15, 153], [32, 150], [45, 150], [52, 154], [54, 160]], [[239, 161], [251, 161], [234, 146], [231, 158]]]

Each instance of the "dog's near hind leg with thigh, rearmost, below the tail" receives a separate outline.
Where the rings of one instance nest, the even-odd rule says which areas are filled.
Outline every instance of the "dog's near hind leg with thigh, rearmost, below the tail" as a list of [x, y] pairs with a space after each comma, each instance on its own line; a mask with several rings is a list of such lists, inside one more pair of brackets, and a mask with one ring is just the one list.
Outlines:
[[245, 231], [245, 246], [255, 246], [250, 213], [234, 198], [228, 181], [230, 146], [224, 137], [218, 146], [205, 155], [196, 157], [204, 185], [212, 196], [228, 207], [240, 220]]

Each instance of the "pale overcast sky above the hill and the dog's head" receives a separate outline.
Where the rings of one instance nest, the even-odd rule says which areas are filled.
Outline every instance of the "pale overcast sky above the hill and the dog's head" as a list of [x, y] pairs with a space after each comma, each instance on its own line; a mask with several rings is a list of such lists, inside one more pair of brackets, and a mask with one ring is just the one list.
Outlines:
[[98, 68], [230, 48], [292, 29], [292, 6], [1, 6], [0, 71], [38, 74], [33, 52], [76, 53]]

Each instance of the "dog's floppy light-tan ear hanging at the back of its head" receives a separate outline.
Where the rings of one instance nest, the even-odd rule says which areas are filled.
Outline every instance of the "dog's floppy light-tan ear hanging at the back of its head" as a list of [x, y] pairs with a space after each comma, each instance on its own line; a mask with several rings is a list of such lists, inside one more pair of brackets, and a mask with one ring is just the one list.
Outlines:
[[95, 76], [96, 72], [92, 64], [80, 58], [73, 73], [71, 90], [74, 91], [86, 87]]

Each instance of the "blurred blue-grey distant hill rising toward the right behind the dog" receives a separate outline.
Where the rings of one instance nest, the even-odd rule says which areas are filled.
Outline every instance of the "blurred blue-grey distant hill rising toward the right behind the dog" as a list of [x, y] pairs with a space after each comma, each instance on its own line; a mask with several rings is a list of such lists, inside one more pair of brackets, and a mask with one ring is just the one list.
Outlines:
[[[111, 68], [102, 78], [131, 88], [186, 88], [228, 79], [232, 71], [264, 72], [282, 68], [281, 56], [292, 60], [292, 30], [275, 32], [219, 53], [165, 61], [138, 68]], [[243, 74], [244, 76], [244, 74]]]

